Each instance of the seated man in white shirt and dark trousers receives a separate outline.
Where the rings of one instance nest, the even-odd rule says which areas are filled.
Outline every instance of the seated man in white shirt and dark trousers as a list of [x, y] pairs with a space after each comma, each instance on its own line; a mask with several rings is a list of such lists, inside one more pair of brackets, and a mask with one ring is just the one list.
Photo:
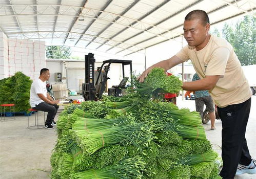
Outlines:
[[53, 100], [47, 93], [46, 81], [50, 78], [50, 71], [42, 69], [40, 77], [35, 79], [30, 88], [30, 105], [33, 109], [48, 112], [45, 121], [45, 128], [54, 129], [53, 125], [56, 124], [54, 117], [57, 113], [58, 100]]

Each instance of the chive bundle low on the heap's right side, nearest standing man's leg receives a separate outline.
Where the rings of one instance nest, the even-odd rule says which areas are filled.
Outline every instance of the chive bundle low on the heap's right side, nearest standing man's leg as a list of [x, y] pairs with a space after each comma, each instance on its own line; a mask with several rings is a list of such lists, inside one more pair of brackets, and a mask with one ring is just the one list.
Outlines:
[[185, 158], [180, 160], [180, 164], [193, 165], [200, 162], [212, 162], [216, 159], [217, 156], [218, 156], [218, 153], [216, 153], [213, 150], [210, 150], [202, 154], [188, 155]]

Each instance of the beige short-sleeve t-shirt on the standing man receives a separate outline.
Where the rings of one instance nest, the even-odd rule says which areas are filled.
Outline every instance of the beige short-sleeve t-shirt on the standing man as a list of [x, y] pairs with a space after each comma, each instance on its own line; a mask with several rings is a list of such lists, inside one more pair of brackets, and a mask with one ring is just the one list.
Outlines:
[[233, 47], [224, 39], [212, 36], [207, 45], [199, 51], [185, 46], [176, 54], [181, 60], [191, 59], [199, 77], [220, 75], [215, 87], [209, 91], [219, 107], [239, 104], [248, 100], [252, 93], [249, 83], [235, 55]]

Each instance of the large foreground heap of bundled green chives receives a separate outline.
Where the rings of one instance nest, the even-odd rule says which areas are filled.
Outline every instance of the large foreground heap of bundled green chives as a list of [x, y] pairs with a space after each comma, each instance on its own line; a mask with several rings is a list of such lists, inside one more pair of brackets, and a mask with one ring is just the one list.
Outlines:
[[[180, 90], [176, 78], [172, 86], [164, 77], [159, 81], [160, 71], [164, 73], [154, 69], [144, 86]], [[152, 98], [152, 91], [141, 93], [146, 90], [142, 86], [137, 84], [121, 98], [105, 96], [67, 107], [57, 120], [50, 177], [221, 178], [221, 161], [206, 139], [199, 114]]]

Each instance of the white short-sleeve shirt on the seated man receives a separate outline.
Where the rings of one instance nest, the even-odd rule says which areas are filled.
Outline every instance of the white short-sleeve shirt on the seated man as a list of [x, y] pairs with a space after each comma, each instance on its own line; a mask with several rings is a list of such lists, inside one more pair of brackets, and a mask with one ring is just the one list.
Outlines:
[[46, 82], [43, 82], [39, 78], [35, 79], [31, 84], [29, 100], [31, 107], [35, 107], [35, 105], [44, 102], [37, 94], [43, 94], [47, 98]]

